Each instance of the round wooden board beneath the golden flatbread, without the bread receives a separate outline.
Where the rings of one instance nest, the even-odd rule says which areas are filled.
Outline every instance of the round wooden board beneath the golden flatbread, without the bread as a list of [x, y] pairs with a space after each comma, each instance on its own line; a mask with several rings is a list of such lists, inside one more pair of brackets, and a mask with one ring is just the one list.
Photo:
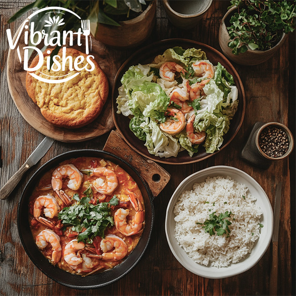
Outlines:
[[[21, 28], [22, 25], [15, 33], [13, 37], [13, 42], [15, 42], [16, 37]], [[25, 29], [23, 30], [17, 44], [17, 46], [20, 46], [20, 54], [22, 56], [22, 61], [24, 56], [23, 47], [26, 46], [24, 43], [24, 35], [26, 31], [27, 30]], [[82, 44], [84, 44], [83, 40], [85, 40], [83, 38], [84, 36], [81, 37]], [[90, 124], [86, 125], [85, 127], [77, 129], [66, 129], [56, 127], [42, 116], [38, 106], [28, 96], [26, 90], [27, 72], [24, 71], [23, 63], [20, 63], [19, 61], [16, 50], [17, 46], [14, 50], [8, 50], [7, 82], [11, 97], [17, 109], [24, 117], [24, 119], [43, 135], [62, 142], [80, 142], [103, 135], [109, 132], [114, 127], [111, 110], [111, 89], [118, 66], [114, 62], [114, 59], [109, 59], [108, 50], [106, 49], [106, 46], [103, 43], [95, 40], [94, 38], [91, 38], [91, 42], [92, 49], [90, 51], [90, 54], [95, 57], [96, 62], [100, 65], [104, 73], [107, 75], [107, 78], [109, 80], [110, 91], [107, 103], [105, 104], [103, 111], [101, 112], [99, 117]], [[77, 44], [76, 46], [72, 46], [72, 48], [80, 50], [81, 52], [85, 51], [85, 47], [79, 47], [77, 46]], [[29, 64], [32, 61], [32, 59], [33, 56], [31, 57]]]

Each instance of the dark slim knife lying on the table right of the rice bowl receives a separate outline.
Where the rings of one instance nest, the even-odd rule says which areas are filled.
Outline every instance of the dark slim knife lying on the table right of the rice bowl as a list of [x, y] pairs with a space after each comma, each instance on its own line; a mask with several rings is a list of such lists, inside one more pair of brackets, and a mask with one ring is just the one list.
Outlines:
[[281, 210], [282, 183], [276, 186], [274, 210], [273, 210], [273, 235], [272, 235], [272, 265], [269, 279], [269, 295], [277, 294], [278, 282], [278, 238]]

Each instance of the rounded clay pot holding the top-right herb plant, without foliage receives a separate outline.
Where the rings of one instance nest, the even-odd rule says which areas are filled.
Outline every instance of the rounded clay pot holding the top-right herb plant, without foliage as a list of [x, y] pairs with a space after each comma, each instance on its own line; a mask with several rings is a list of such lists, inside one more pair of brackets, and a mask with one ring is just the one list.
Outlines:
[[236, 10], [236, 6], [229, 9], [224, 17], [222, 18], [220, 30], [219, 30], [219, 44], [221, 46], [221, 49], [226, 57], [228, 57], [230, 60], [234, 61], [237, 64], [240, 65], [258, 65], [261, 64], [268, 59], [270, 59], [282, 46], [284, 43], [287, 34], [283, 33], [283, 37], [280, 39], [280, 41], [273, 46], [271, 49], [268, 50], [252, 50], [248, 48], [248, 50], [244, 53], [240, 53], [238, 55], [233, 54], [231, 51], [232, 49], [228, 47], [228, 42], [230, 41], [229, 34], [227, 31], [227, 28], [229, 24], [229, 20], [233, 13]]

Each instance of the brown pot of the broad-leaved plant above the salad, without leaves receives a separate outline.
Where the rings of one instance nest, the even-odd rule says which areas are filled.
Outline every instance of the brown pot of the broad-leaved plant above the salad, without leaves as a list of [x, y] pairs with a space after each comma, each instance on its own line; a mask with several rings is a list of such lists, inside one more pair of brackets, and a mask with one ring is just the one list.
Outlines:
[[120, 27], [98, 24], [95, 38], [114, 47], [132, 47], [142, 43], [151, 33], [156, 18], [157, 0], [153, 0], [142, 14], [119, 22]]

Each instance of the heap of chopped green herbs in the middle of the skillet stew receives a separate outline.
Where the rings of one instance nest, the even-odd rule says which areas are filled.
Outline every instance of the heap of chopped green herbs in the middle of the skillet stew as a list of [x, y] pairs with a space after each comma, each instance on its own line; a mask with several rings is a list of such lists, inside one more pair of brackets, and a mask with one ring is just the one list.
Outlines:
[[104, 237], [105, 229], [114, 225], [110, 206], [116, 206], [119, 200], [114, 195], [109, 202], [93, 205], [89, 203], [93, 194], [90, 186], [83, 194], [81, 199], [74, 194], [73, 199], [77, 202], [64, 208], [58, 218], [65, 225], [73, 225], [71, 229], [79, 233], [78, 242], [91, 243], [95, 236]]

